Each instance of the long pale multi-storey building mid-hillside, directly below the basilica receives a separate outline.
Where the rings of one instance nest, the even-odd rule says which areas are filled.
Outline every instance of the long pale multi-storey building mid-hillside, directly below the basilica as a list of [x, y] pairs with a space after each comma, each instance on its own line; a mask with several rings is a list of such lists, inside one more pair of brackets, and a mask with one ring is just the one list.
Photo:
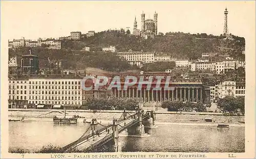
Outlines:
[[139, 52], [139, 51], [118, 52], [118, 56], [124, 58], [126, 61], [129, 61], [129, 62], [152, 63], [155, 60], [153, 52]]

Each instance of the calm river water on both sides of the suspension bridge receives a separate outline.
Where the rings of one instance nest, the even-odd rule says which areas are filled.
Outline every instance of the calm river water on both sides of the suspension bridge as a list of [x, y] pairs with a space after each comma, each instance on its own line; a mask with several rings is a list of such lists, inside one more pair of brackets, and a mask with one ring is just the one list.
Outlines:
[[[106, 125], [107, 123], [105, 123]], [[244, 152], [244, 127], [158, 124], [145, 129], [149, 137], [120, 136], [124, 152]], [[9, 122], [9, 148], [36, 151], [44, 145], [65, 146], [77, 140], [88, 123], [54, 124], [52, 121]], [[90, 131], [88, 131], [90, 133]]]

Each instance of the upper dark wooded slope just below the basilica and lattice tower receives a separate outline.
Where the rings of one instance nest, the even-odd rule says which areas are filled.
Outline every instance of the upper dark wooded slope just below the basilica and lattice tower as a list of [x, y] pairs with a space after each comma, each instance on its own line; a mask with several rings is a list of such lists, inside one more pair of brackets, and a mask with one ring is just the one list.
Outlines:
[[[82, 49], [90, 46], [91, 50], [101, 51], [103, 46], [116, 46], [118, 51], [156, 51], [165, 52], [174, 57], [197, 59], [203, 52], [217, 51], [216, 47], [244, 46], [244, 38], [232, 36], [234, 40], [225, 41], [222, 36], [185, 33], [166, 33], [165, 36], [156, 36], [154, 39], [144, 40], [130, 34], [121, 34], [117, 31], [96, 33], [94, 37], [82, 39], [81, 42], [63, 41], [64, 48]], [[242, 51], [240, 51], [242, 54]]]

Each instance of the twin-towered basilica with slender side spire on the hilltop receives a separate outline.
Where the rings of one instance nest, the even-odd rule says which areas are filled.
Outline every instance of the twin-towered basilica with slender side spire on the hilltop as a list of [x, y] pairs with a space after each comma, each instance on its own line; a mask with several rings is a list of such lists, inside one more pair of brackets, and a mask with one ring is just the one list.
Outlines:
[[145, 39], [148, 37], [154, 38], [157, 35], [157, 13], [154, 14], [154, 19], [145, 19], [145, 13], [141, 14], [141, 30], [137, 29], [137, 20], [135, 17], [133, 25], [133, 34], [142, 36]]

